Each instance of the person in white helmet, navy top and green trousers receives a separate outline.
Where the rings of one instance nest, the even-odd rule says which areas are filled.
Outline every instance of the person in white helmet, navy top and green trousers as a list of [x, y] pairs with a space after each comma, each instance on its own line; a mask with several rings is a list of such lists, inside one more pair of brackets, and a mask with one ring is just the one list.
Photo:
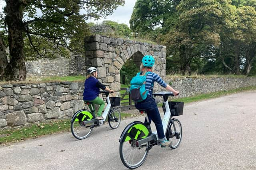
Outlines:
[[104, 120], [102, 117], [101, 113], [104, 110], [105, 103], [104, 101], [99, 98], [100, 94], [100, 88], [102, 90], [107, 90], [110, 93], [114, 92], [113, 90], [110, 90], [106, 86], [104, 86], [102, 83], [99, 82], [97, 79], [98, 72], [97, 68], [95, 67], [90, 67], [87, 69], [87, 77], [84, 82], [84, 98], [83, 100], [86, 102], [90, 102], [93, 104], [98, 104], [100, 105], [98, 111], [97, 111], [97, 119]]

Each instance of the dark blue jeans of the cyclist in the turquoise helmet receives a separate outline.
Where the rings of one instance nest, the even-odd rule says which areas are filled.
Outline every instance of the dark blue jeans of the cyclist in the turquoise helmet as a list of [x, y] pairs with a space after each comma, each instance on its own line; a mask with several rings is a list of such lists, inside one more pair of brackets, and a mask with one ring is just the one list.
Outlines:
[[[156, 102], [152, 98], [152, 96], [147, 96], [147, 98], [145, 100], [143, 100], [142, 102], [137, 102], [135, 104], [135, 107], [136, 107], [136, 109], [146, 109], [147, 114], [148, 114], [149, 123], [151, 123], [151, 120], [155, 123], [158, 138], [163, 139], [164, 138], [164, 127], [162, 125], [161, 116], [158, 111]], [[145, 118], [145, 123], [146, 123], [146, 118]]]

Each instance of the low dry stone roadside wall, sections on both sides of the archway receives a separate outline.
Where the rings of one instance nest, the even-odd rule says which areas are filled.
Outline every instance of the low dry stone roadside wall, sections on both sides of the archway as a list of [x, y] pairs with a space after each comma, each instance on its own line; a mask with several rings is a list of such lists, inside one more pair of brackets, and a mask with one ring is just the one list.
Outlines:
[[[111, 76], [110, 76], [111, 77]], [[256, 78], [166, 78], [179, 97], [256, 86]], [[162, 88], [154, 86], [155, 91]], [[83, 109], [84, 82], [0, 85], [0, 129], [71, 118]]]

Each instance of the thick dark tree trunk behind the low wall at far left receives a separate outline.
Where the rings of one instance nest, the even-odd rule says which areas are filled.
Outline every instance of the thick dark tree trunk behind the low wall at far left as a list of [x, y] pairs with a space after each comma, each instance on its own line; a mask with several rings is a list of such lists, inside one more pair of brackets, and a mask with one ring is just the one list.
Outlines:
[[23, 55], [25, 32], [24, 23], [22, 22], [24, 4], [18, 0], [6, 0], [6, 18], [8, 26], [8, 42], [10, 49], [10, 64], [5, 71], [6, 80], [25, 80], [26, 66]]

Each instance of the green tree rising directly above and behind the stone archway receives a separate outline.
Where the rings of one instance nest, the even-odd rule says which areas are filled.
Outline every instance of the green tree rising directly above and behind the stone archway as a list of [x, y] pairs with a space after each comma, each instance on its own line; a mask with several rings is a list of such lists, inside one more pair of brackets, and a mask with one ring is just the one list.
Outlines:
[[[136, 37], [143, 37], [156, 28], [158, 34], [173, 25], [176, 6], [180, 0], [137, 0], [130, 19], [130, 27]], [[168, 28], [167, 28], [168, 30]]]

